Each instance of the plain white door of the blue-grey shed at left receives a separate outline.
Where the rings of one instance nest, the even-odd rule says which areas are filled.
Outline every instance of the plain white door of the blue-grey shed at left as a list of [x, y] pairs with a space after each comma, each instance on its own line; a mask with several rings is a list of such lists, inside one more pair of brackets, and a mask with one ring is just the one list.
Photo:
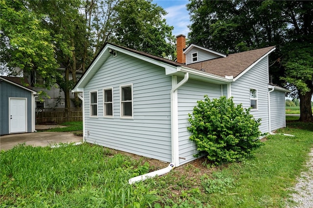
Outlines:
[[10, 132], [26, 132], [26, 98], [9, 98]]

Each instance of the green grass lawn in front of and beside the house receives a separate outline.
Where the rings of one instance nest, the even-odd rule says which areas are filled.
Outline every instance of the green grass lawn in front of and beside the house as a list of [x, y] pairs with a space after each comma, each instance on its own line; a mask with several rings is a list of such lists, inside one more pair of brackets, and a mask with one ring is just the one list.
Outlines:
[[284, 208], [313, 147], [313, 124], [288, 122], [253, 158], [212, 167], [205, 159], [129, 185], [159, 167], [101, 146], [16, 146], [0, 152], [0, 207]]

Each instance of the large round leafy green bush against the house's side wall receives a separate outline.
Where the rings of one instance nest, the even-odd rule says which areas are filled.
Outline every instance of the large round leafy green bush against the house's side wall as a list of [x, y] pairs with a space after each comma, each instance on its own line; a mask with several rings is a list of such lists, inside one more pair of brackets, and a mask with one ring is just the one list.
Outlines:
[[197, 102], [193, 115], [189, 114], [190, 140], [217, 165], [248, 157], [262, 145], [258, 139], [262, 136], [261, 119], [255, 120], [249, 112], [242, 104], [235, 105], [232, 98], [223, 96], [211, 101], [205, 95], [204, 101]]

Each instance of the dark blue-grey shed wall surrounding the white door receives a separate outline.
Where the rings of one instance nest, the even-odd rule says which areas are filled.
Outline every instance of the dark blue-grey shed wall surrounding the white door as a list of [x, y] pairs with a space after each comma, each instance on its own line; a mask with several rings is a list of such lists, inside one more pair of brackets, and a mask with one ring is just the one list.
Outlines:
[[0, 135], [9, 134], [9, 98], [27, 98], [27, 132], [32, 132], [31, 92], [14, 84], [0, 83]]

